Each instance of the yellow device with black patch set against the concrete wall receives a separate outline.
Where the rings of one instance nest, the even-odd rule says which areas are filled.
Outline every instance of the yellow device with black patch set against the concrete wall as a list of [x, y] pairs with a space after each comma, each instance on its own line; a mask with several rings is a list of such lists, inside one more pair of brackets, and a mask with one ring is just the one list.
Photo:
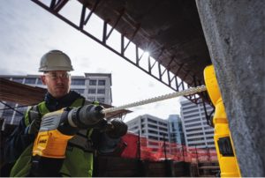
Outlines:
[[239, 164], [231, 140], [231, 132], [213, 65], [205, 68], [204, 80], [208, 95], [216, 107], [216, 113], [213, 118], [213, 124], [215, 126], [214, 139], [221, 177], [239, 177], [241, 176]]

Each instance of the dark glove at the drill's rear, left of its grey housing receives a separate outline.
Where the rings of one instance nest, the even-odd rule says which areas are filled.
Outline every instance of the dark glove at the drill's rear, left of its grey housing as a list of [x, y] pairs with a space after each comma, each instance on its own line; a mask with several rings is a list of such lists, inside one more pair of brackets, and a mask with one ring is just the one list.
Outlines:
[[37, 134], [40, 130], [41, 122], [42, 122], [42, 117], [39, 115], [38, 112], [30, 110], [29, 115], [32, 117], [31, 119], [33, 120], [29, 126], [28, 126], [28, 134]]

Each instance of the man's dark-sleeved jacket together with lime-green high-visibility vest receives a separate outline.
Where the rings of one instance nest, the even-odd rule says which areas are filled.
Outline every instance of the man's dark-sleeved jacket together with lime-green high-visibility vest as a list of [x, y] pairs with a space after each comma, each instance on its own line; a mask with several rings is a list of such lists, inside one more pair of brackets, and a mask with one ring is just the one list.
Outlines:
[[[14, 163], [10, 176], [25, 177], [33, 175], [30, 170], [34, 136], [27, 134], [27, 130], [34, 117], [42, 117], [61, 108], [76, 108], [88, 104], [85, 101], [82, 96], [75, 92], [67, 94], [61, 100], [54, 99], [48, 93], [44, 101], [28, 108], [26, 115], [19, 123], [19, 127], [9, 137], [4, 149], [5, 160]], [[36, 115], [36, 112], [38, 115]], [[100, 150], [102, 148], [102, 150], [111, 152], [115, 149], [115, 143], [118, 142], [117, 139], [111, 142], [110, 140], [104, 141], [104, 139], [108, 139], [108, 137], [99, 131], [93, 129], [79, 130], [78, 134], [69, 140], [62, 167], [59, 173], [55, 173], [54, 176], [91, 177], [93, 175], [93, 152], [95, 152], [95, 149]], [[111, 145], [106, 145], [107, 143], [111, 143]]]

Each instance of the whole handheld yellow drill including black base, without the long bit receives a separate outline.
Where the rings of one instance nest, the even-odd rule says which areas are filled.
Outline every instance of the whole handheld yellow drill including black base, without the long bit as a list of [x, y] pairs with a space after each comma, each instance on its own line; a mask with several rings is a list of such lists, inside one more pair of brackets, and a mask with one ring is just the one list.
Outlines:
[[104, 119], [102, 109], [102, 106], [86, 105], [44, 115], [34, 140], [31, 173], [34, 176], [57, 176], [69, 139], [79, 130], [95, 128], [99, 124], [111, 125]]

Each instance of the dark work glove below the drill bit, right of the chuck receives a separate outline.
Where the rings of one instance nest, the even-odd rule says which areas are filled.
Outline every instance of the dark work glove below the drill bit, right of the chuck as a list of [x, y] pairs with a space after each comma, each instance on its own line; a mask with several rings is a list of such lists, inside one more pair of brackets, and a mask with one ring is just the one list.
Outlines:
[[110, 122], [111, 129], [106, 131], [106, 134], [111, 138], [118, 138], [122, 137], [127, 133], [128, 126], [125, 124], [125, 122], [114, 119]]

